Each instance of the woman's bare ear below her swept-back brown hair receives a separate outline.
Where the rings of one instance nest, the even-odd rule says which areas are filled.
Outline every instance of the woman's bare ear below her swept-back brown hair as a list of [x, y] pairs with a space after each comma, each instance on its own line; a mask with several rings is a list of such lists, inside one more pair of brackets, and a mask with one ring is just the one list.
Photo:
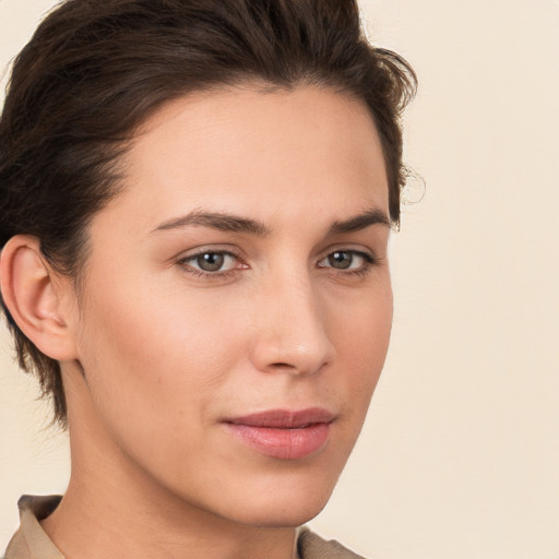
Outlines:
[[49, 266], [36, 237], [16, 235], [0, 254], [0, 290], [21, 331], [46, 356], [75, 358], [73, 284]]

